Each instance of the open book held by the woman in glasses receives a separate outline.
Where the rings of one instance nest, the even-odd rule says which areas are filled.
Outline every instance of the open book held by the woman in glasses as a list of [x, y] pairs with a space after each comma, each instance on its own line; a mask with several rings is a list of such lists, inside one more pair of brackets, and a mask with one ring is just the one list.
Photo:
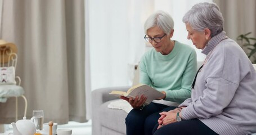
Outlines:
[[152, 102], [156, 98], [164, 97], [163, 93], [150, 86], [147, 86], [146, 84], [137, 84], [136, 86], [129, 88], [127, 92], [112, 91], [109, 94], [118, 97], [124, 96], [128, 98], [135, 98], [136, 96], [141, 97], [141, 95], [145, 95], [147, 97], [147, 100], [144, 105], [149, 105], [150, 102]]

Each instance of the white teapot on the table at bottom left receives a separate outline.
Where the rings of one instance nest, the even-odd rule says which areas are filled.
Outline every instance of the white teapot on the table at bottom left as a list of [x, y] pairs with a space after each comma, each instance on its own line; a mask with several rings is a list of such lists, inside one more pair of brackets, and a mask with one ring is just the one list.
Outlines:
[[14, 129], [14, 135], [33, 135], [36, 132], [35, 124], [32, 120], [23, 117], [23, 120], [18, 120], [16, 123], [11, 123]]

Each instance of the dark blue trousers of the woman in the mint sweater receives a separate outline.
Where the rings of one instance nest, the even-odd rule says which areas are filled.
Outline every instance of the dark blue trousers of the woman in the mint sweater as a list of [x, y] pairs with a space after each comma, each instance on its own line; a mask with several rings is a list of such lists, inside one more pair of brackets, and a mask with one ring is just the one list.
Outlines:
[[127, 135], [150, 135], [153, 128], [158, 123], [159, 113], [162, 111], [173, 110], [176, 107], [166, 105], [151, 104], [145, 106], [142, 110], [133, 109], [125, 119]]

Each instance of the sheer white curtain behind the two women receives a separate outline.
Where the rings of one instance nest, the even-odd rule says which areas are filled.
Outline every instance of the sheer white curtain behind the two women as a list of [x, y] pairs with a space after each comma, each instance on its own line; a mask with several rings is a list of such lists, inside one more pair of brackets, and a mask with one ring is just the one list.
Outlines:
[[[170, 13], [174, 20], [174, 40], [191, 44], [182, 17], [195, 3], [210, 0], [88, 0], [91, 88], [128, 86], [133, 66], [146, 51], [143, 25], [156, 10]], [[198, 60], [204, 55], [198, 52]]]

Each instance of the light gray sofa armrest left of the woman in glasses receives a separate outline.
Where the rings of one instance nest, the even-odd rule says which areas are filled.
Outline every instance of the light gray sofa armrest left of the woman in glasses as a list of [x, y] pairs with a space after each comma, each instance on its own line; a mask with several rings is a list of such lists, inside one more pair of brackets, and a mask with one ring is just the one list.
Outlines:
[[118, 97], [109, 95], [111, 91], [128, 91], [131, 86], [125, 87], [108, 87], [92, 91], [92, 134], [101, 135], [100, 106], [107, 101], [118, 99]]

